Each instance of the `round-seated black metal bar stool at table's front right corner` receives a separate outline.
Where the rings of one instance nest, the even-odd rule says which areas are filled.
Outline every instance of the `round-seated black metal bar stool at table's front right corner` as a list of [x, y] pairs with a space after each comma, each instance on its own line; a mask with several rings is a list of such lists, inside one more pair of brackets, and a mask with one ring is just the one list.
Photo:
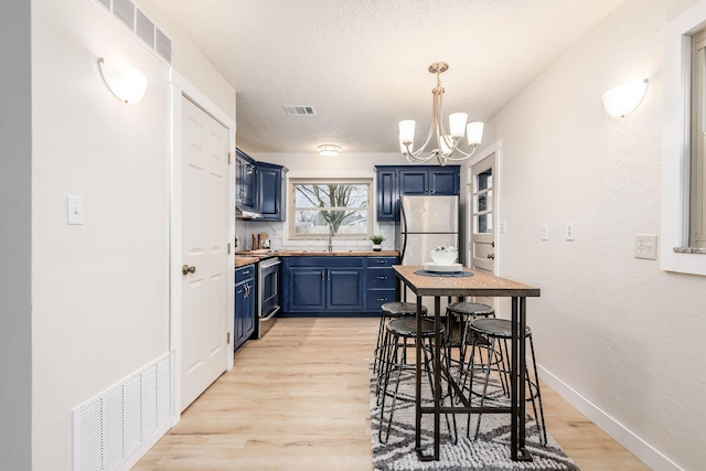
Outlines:
[[[474, 379], [475, 373], [478, 373], [478, 370], [480, 368], [481, 373], [484, 373], [483, 388], [482, 388], [482, 392], [479, 393], [481, 397], [481, 400], [480, 400], [481, 407], [484, 405], [486, 399], [488, 400], [507, 399], [507, 393], [505, 392], [504, 387], [503, 387], [502, 397], [496, 397], [496, 396], [491, 397], [488, 394], [488, 383], [489, 383], [491, 371], [495, 371], [501, 376], [501, 378], [503, 376], [505, 377], [510, 376], [510, 370], [504, 366], [504, 362], [501, 364], [496, 364], [496, 363], [493, 363], [492, 358], [494, 353], [496, 352], [496, 347], [500, 347], [500, 349], [504, 347], [505, 352], [509, 351], [507, 342], [512, 340], [512, 322], [507, 319], [491, 319], [491, 318], [475, 319], [469, 323], [469, 328], [470, 328], [471, 334], [473, 334], [473, 343], [471, 346], [471, 357], [468, 364], [468, 370], [470, 372], [469, 390], [471, 390], [472, 393], [475, 393], [473, 392], [473, 379]], [[485, 338], [490, 342], [490, 346], [488, 346], [488, 355], [486, 355], [485, 363], [475, 362], [475, 358], [474, 358], [479, 347], [477, 339], [480, 339], [480, 338]], [[530, 354], [532, 356], [532, 368], [534, 374], [534, 379], [533, 379], [530, 377], [530, 368], [525, 371], [525, 381], [527, 384], [526, 400], [532, 402], [532, 410], [534, 411], [534, 417], [537, 422], [537, 427], [539, 428], [539, 443], [546, 445], [547, 430], [546, 430], [546, 424], [544, 421], [544, 408], [542, 406], [542, 392], [539, 389], [539, 376], [537, 375], [537, 363], [535, 361], [534, 343], [532, 341], [532, 330], [530, 329], [530, 327], [525, 329], [525, 339], [530, 341]], [[538, 408], [537, 408], [537, 404], [538, 404]], [[479, 414], [478, 422], [475, 425], [474, 438], [478, 438], [478, 433], [480, 431], [481, 417], [482, 415]], [[468, 435], [470, 437], [470, 428], [471, 428], [470, 415], [468, 417], [468, 424], [469, 424]]]

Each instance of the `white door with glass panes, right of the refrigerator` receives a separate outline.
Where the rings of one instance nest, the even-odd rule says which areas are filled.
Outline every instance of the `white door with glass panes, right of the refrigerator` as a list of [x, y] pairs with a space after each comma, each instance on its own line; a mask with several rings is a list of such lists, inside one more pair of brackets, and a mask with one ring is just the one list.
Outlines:
[[[471, 268], [495, 275], [495, 152], [471, 167], [469, 184], [469, 257]], [[477, 302], [494, 306], [490, 298], [475, 298]]]

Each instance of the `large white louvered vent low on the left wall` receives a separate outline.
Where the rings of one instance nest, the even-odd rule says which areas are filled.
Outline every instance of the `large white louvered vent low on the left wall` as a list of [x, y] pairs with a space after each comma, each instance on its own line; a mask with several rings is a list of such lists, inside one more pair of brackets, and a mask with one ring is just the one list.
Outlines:
[[74, 471], [117, 470], [171, 426], [172, 356], [73, 410]]

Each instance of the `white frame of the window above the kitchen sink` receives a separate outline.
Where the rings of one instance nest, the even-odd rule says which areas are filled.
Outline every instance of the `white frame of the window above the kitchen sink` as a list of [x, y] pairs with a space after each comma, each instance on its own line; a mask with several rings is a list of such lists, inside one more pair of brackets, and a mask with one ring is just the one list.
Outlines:
[[289, 195], [289, 204], [287, 205], [287, 218], [289, 223], [287, 224], [287, 233], [288, 239], [295, 243], [307, 243], [311, 240], [327, 240], [329, 238], [328, 234], [310, 234], [310, 235], [301, 235], [297, 234], [295, 231], [296, 224], [296, 194], [295, 194], [295, 185], [302, 184], [355, 184], [355, 185], [365, 185], [367, 186], [367, 205], [365, 206], [365, 211], [367, 211], [366, 218], [366, 228], [364, 234], [334, 234], [335, 240], [346, 240], [346, 242], [360, 242], [360, 240], [368, 240], [374, 232], [374, 206], [373, 206], [373, 179], [371, 178], [350, 178], [350, 179], [340, 179], [340, 178], [289, 178], [288, 179], [288, 188], [287, 194]]

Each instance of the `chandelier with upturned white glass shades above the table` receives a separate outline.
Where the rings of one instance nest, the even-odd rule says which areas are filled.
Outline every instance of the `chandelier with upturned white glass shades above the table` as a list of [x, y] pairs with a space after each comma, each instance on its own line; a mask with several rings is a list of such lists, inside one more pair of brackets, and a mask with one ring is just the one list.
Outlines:
[[[443, 87], [439, 76], [449, 69], [446, 62], [435, 62], [429, 66], [429, 72], [436, 74], [437, 86], [431, 89], [431, 126], [427, 139], [418, 150], [414, 150], [415, 140], [415, 121], [405, 119], [399, 121], [399, 149], [407, 158], [409, 163], [426, 163], [432, 158], [441, 165], [446, 165], [449, 161], [466, 160], [475, 152], [475, 148], [481, 143], [483, 138], [483, 124], [469, 122], [466, 113], [453, 113], [449, 115], [449, 131], [443, 127], [443, 116], [441, 114], [441, 104], [443, 101]], [[470, 152], [463, 152], [459, 149], [463, 135], [468, 137], [468, 144], [471, 147]], [[435, 138], [436, 146], [427, 156], [422, 156], [425, 149]]]

